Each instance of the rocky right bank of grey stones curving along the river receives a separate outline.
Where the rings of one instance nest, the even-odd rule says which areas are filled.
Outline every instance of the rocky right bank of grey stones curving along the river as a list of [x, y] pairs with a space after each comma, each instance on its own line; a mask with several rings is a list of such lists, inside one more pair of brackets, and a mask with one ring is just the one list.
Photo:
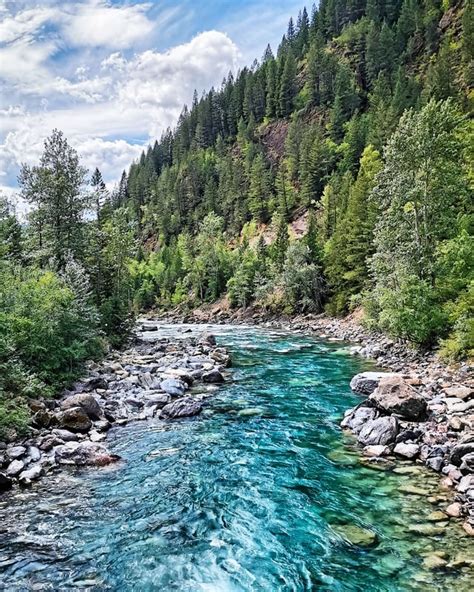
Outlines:
[[460, 520], [464, 531], [474, 537], [472, 366], [449, 366], [434, 352], [416, 350], [365, 329], [357, 316], [278, 317], [258, 309], [233, 311], [214, 305], [184, 316], [174, 313], [156, 318], [175, 323], [260, 325], [354, 344], [350, 353], [373, 360], [381, 373], [361, 375], [351, 382], [364, 398], [347, 410], [341, 426], [354, 434], [369, 462], [409, 460], [438, 473], [441, 487], [452, 491], [452, 499], [441, 504], [432, 499], [431, 503], [440, 516]]

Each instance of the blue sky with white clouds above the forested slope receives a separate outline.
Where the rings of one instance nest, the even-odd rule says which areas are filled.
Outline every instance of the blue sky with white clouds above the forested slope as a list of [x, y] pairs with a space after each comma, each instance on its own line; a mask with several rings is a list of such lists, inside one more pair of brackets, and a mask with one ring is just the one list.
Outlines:
[[0, 191], [62, 130], [112, 185], [192, 93], [276, 51], [301, 0], [0, 0]]

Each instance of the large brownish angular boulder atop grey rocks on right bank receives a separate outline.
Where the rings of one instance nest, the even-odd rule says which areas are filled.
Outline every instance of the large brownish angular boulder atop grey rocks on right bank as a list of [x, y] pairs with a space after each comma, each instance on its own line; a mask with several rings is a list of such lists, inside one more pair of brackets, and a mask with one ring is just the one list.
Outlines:
[[426, 401], [397, 374], [382, 378], [369, 400], [384, 413], [394, 413], [411, 421], [423, 419]]

